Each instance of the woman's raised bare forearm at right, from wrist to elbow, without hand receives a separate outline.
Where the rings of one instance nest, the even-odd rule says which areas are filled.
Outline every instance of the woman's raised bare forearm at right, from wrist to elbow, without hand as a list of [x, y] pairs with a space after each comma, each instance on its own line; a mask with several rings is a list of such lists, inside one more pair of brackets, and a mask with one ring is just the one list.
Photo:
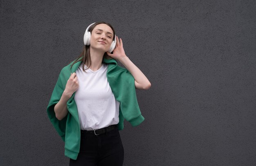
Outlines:
[[141, 72], [141, 70], [127, 57], [119, 58], [121, 62], [128, 71], [132, 74], [135, 79], [135, 86], [137, 89], [149, 89], [151, 84], [148, 78]]

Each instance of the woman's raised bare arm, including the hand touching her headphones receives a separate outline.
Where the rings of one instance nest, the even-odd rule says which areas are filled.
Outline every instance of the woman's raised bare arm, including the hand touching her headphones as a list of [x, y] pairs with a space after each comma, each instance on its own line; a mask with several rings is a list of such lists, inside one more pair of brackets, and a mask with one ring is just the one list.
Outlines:
[[135, 79], [135, 87], [136, 89], [149, 89], [151, 84], [148, 80], [148, 78], [139, 70], [139, 68], [132, 63], [132, 61], [126, 56], [124, 52], [124, 47], [123, 47], [123, 42], [122, 39], [120, 38], [120, 41], [118, 40], [117, 37], [117, 44], [116, 47], [113, 51], [113, 54], [108, 53], [107, 54], [121, 62], [128, 71], [132, 74], [132, 76]]

